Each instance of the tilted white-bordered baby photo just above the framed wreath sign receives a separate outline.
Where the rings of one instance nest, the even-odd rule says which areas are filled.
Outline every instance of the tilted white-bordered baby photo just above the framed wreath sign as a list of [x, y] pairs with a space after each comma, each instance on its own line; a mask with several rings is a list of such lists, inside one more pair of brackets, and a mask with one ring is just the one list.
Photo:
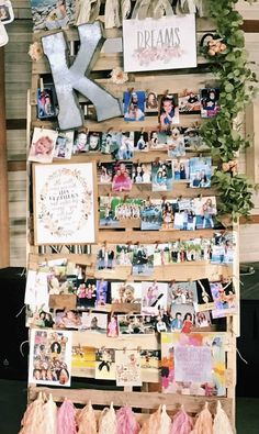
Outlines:
[[29, 162], [52, 163], [57, 136], [57, 131], [35, 127], [29, 152]]

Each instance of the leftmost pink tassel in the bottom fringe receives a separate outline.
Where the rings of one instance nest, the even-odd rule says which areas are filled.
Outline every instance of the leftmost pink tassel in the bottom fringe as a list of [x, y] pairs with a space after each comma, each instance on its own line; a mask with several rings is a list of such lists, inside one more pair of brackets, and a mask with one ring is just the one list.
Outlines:
[[[72, 402], [65, 399], [57, 412], [57, 434], [77, 434], [76, 409]], [[36, 434], [36, 432], [34, 433]]]

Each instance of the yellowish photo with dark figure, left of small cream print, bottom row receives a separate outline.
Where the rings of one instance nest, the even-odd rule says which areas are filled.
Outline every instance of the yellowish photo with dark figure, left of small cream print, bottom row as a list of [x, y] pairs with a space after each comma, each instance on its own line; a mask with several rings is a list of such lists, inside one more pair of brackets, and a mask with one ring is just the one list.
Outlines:
[[95, 350], [95, 378], [115, 380], [115, 349], [103, 347]]

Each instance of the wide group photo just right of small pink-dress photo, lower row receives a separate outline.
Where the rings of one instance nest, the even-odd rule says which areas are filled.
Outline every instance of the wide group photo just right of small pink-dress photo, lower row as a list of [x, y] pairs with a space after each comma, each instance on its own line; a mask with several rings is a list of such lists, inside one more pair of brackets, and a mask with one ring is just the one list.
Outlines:
[[117, 315], [119, 335], [154, 334], [154, 322], [150, 316], [140, 314]]

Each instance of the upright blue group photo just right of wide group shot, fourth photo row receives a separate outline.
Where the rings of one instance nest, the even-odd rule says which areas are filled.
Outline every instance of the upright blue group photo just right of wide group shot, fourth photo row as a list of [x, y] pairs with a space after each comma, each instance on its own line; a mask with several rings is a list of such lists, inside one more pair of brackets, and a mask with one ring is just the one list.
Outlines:
[[160, 199], [151, 199], [144, 202], [140, 211], [140, 229], [142, 231], [159, 231], [162, 225], [162, 201]]

